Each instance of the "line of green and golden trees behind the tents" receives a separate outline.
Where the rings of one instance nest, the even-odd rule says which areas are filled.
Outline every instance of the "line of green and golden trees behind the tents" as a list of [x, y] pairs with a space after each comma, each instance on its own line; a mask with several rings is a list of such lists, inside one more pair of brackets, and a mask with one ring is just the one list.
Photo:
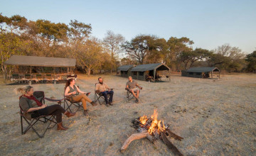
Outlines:
[[[11, 55], [69, 57], [88, 75], [91, 71], [113, 71], [119, 65], [164, 62], [173, 71], [189, 67], [218, 67], [227, 72], [256, 72], [256, 51], [245, 55], [240, 48], [228, 44], [214, 50], [193, 49], [189, 38], [137, 35], [127, 41], [121, 34], [107, 31], [102, 40], [92, 36], [92, 26], [77, 20], [53, 23], [38, 19], [0, 14], [1, 72]], [[126, 57], [119, 58], [119, 53]], [[11, 71], [14, 67], [9, 67]]]

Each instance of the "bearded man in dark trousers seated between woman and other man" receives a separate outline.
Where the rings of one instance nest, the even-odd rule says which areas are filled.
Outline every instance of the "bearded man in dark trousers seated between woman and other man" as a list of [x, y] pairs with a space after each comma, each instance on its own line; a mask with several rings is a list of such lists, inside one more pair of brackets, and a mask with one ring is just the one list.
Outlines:
[[[108, 87], [107, 84], [103, 83], [103, 80], [101, 77], [99, 77], [98, 80], [99, 80], [99, 84], [96, 84], [95, 91], [99, 92], [104, 96], [106, 106], [109, 106], [109, 105], [113, 106], [112, 101], [113, 101], [114, 91], [112, 91], [112, 89], [110, 89], [110, 87]], [[110, 99], [107, 99], [107, 94], [110, 94]]]

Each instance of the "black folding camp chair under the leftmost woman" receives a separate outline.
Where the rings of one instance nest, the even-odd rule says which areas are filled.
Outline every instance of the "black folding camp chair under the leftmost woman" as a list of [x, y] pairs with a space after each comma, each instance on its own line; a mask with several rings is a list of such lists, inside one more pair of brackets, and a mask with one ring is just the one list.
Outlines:
[[[33, 95], [36, 96], [38, 99], [41, 98], [41, 103], [45, 104], [45, 99], [48, 101], [53, 101], [53, 102], [58, 102], [58, 104], [61, 104], [61, 101], [63, 101], [63, 99], [48, 99], [45, 97], [45, 94], [43, 91], [34, 91]], [[19, 97], [19, 99], [21, 98], [21, 96]], [[29, 121], [25, 116], [24, 113], [25, 111], [22, 110], [21, 106], [20, 107], [20, 115], [21, 115], [21, 134], [25, 134], [30, 128], [36, 133], [36, 135], [38, 135], [39, 138], [43, 138], [43, 136], [46, 134], [46, 131], [50, 128], [53, 128], [57, 122], [56, 122], [56, 118], [54, 115], [48, 115], [48, 116], [38, 116], [37, 118], [32, 118], [31, 121]], [[27, 127], [23, 128], [23, 121], [26, 121], [25, 123], [27, 123]], [[39, 122], [38, 122], [39, 121]], [[43, 130], [43, 133], [40, 135], [38, 133], [38, 130], [36, 130], [36, 123], [48, 123], [48, 125], [46, 126], [46, 128]], [[53, 123], [53, 126], [50, 126]]]

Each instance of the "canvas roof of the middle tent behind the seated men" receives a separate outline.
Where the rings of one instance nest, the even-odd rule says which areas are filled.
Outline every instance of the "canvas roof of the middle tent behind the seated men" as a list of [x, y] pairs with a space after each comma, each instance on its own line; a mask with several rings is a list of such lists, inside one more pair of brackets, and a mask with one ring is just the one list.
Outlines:
[[167, 67], [163, 63], [153, 63], [153, 64], [146, 64], [146, 65], [137, 65], [136, 67], [132, 68], [131, 71], [132, 72], [145, 72], [147, 70], [154, 70], [158, 67], [161, 67], [160, 70], [169, 70], [170, 69], [169, 67]]

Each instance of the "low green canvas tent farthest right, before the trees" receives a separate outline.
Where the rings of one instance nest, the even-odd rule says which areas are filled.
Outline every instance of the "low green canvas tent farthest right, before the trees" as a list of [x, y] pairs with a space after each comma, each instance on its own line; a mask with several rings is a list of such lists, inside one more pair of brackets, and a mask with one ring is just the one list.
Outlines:
[[213, 73], [217, 72], [217, 77], [220, 78], [220, 70], [217, 67], [191, 67], [188, 70], [181, 71], [182, 77], [197, 77], [197, 78], [213, 78]]

